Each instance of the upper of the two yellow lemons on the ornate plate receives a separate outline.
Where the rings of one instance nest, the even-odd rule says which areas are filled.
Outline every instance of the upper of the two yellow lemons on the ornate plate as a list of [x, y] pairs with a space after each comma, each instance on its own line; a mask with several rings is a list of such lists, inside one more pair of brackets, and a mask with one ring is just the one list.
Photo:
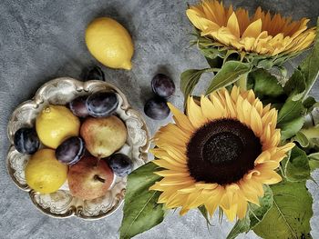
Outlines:
[[65, 139], [77, 136], [80, 122], [62, 105], [47, 105], [36, 117], [36, 133], [43, 144], [56, 149]]

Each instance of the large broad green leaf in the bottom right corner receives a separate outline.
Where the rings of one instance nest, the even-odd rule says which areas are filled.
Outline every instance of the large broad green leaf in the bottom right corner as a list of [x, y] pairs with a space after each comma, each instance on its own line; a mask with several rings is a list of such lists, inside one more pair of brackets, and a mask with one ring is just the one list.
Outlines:
[[273, 184], [273, 206], [253, 231], [262, 238], [311, 238], [311, 194], [305, 182]]

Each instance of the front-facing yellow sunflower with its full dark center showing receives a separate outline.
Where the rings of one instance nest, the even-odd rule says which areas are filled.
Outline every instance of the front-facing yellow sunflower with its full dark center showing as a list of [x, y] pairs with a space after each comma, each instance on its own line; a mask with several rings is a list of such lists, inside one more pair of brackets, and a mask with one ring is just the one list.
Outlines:
[[263, 106], [252, 90], [233, 86], [188, 98], [187, 115], [170, 105], [175, 124], [160, 128], [151, 150], [163, 178], [149, 189], [162, 192], [159, 203], [181, 207], [180, 214], [204, 205], [221, 207], [232, 221], [248, 203], [259, 204], [263, 184], [276, 184], [281, 160], [294, 144], [280, 144], [277, 111]]

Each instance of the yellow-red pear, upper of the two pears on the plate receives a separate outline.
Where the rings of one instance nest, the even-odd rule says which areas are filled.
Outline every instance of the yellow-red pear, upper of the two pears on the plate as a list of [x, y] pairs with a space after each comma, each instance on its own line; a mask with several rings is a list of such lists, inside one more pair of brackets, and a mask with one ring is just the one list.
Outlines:
[[97, 158], [108, 157], [127, 141], [125, 124], [115, 115], [102, 118], [87, 118], [81, 125], [80, 134], [87, 150]]

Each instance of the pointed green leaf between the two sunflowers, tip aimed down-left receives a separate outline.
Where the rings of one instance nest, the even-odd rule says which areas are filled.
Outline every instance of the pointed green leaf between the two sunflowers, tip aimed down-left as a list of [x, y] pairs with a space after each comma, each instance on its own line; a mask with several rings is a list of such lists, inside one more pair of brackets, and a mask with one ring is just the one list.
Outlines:
[[221, 87], [231, 85], [238, 78], [250, 71], [251, 65], [237, 61], [228, 61], [222, 65], [221, 70], [215, 75], [211, 81], [211, 85], [206, 91], [206, 95], [218, 90]]

